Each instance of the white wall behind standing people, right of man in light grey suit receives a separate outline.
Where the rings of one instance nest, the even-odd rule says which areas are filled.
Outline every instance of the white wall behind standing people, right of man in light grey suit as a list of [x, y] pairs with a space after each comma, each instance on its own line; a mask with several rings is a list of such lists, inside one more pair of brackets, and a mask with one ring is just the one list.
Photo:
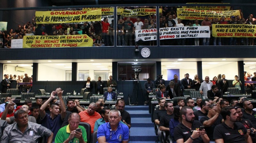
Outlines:
[[232, 62], [216, 68], [210, 68], [208, 71], [203, 69], [203, 78], [205, 76], [209, 76], [210, 80], [212, 80], [214, 76], [218, 77], [219, 74], [226, 75], [226, 79], [235, 80], [235, 75], [238, 75], [237, 62]]

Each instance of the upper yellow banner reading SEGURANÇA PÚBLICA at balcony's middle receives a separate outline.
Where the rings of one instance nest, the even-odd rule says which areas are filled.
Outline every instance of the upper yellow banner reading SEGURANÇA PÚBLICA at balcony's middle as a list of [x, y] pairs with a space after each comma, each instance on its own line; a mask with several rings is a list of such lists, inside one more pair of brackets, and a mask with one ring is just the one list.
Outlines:
[[[160, 12], [160, 9], [159, 9], [159, 12]], [[153, 9], [153, 8], [137, 8], [133, 10], [124, 10], [122, 12], [122, 15], [125, 17], [144, 16], [144, 15], [153, 15], [153, 14], [156, 14], [156, 9]]]

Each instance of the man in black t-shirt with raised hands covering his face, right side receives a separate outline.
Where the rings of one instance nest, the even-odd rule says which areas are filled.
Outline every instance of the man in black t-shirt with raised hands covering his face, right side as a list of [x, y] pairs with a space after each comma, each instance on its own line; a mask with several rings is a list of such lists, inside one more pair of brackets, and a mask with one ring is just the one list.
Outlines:
[[221, 124], [221, 121], [223, 120], [222, 116], [220, 115], [220, 110], [219, 105], [211, 104], [209, 105], [207, 116], [202, 117], [200, 120], [200, 122], [204, 125], [204, 129], [207, 132], [210, 141], [214, 141], [213, 131], [215, 126]]

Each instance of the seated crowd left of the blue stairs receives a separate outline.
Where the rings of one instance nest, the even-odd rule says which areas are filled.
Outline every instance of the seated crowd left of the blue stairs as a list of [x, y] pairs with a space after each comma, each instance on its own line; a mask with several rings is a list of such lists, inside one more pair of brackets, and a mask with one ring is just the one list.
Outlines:
[[87, 142], [87, 132], [80, 122], [89, 123], [91, 133], [97, 131], [98, 142], [128, 142], [131, 116], [124, 110], [123, 99], [118, 99], [111, 111], [104, 106], [103, 98], [85, 109], [79, 99], [64, 101], [62, 94], [63, 90], [57, 88], [49, 99], [37, 98], [33, 104], [26, 99], [15, 109], [15, 99], [6, 97], [0, 105], [4, 106], [0, 113], [1, 142], [37, 142], [43, 136], [47, 143]]

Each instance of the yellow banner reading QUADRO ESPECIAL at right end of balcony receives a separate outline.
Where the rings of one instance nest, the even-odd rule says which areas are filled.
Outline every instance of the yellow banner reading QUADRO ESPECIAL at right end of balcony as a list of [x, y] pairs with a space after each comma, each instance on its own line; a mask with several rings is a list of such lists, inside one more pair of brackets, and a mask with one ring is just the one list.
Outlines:
[[213, 37], [256, 37], [255, 25], [212, 24]]

